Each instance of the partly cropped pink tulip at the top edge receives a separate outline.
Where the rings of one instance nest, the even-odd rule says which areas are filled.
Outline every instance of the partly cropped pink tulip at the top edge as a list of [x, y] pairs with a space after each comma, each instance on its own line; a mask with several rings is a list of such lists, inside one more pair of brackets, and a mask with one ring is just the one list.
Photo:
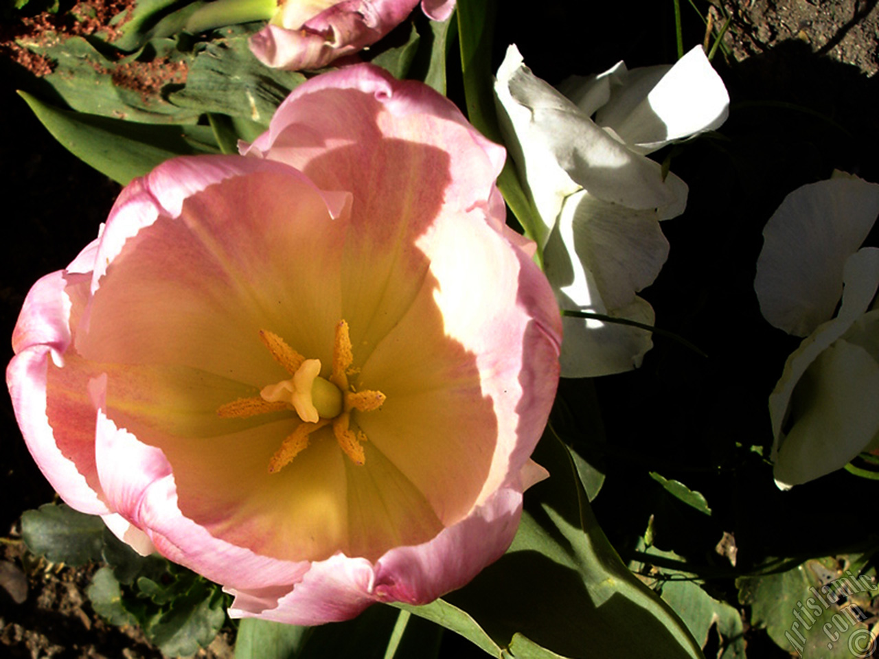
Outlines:
[[[251, 37], [260, 62], [275, 69], [320, 69], [374, 44], [400, 25], [418, 0], [279, 0], [278, 11]], [[422, 0], [433, 20], [446, 20], [454, 0]]]

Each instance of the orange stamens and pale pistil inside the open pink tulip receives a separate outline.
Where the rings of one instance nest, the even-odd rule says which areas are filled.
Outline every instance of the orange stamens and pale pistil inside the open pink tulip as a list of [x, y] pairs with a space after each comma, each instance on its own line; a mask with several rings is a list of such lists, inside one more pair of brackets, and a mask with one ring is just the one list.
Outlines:
[[284, 439], [269, 460], [269, 472], [272, 474], [279, 472], [305, 450], [311, 433], [329, 424], [332, 424], [333, 435], [345, 455], [354, 464], [363, 465], [366, 462], [363, 443], [367, 441], [367, 436], [363, 431], [352, 431], [352, 411], [371, 412], [379, 409], [385, 401], [385, 395], [381, 391], [354, 391], [354, 387], [348, 383], [354, 360], [348, 323], [340, 321], [336, 326], [329, 380], [320, 376], [320, 359], [302, 357], [284, 339], [265, 329], [260, 330], [259, 338], [275, 361], [284, 366], [292, 377], [263, 387], [258, 396], [227, 402], [217, 409], [217, 415], [240, 418], [281, 409], [295, 411], [302, 423]]

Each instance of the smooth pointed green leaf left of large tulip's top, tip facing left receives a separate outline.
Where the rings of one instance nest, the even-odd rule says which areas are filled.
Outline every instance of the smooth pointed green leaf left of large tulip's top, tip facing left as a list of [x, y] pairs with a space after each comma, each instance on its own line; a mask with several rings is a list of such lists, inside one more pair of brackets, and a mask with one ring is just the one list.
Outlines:
[[74, 156], [126, 185], [174, 156], [216, 153], [207, 126], [156, 126], [69, 112], [18, 92], [37, 119]]

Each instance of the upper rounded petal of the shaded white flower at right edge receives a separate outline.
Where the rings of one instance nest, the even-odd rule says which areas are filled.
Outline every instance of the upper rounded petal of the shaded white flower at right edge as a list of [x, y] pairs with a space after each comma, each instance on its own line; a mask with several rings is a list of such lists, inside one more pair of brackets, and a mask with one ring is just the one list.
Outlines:
[[843, 265], [879, 213], [879, 185], [839, 177], [803, 185], [763, 229], [754, 288], [774, 327], [805, 337], [828, 320], [842, 293]]

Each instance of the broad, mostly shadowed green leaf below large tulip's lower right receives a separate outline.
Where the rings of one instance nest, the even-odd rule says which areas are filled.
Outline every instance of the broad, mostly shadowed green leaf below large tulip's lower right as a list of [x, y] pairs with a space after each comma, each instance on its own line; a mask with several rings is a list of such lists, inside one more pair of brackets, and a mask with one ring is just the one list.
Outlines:
[[548, 434], [534, 460], [551, 476], [528, 490], [512, 547], [447, 600], [500, 648], [523, 634], [574, 659], [701, 659], [684, 623], [607, 541], [568, 449]]

